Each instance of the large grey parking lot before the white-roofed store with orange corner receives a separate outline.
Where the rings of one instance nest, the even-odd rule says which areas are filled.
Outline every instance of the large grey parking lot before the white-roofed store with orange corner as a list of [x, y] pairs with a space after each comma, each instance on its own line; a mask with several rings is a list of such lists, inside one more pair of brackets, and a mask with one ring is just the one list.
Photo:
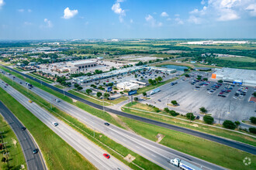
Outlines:
[[[202, 77], [207, 76], [207, 73], [200, 74]], [[206, 107], [208, 114], [215, 118], [216, 123], [219, 123], [219, 119], [221, 123], [227, 119], [240, 121], [248, 120], [249, 117], [255, 116], [256, 104], [248, 102], [254, 87], [231, 86], [226, 83], [222, 83], [218, 87], [216, 82], [212, 81], [199, 81], [192, 85], [196, 75], [190, 78], [182, 77], [173, 86], [171, 86], [171, 83], [168, 83], [160, 87], [161, 91], [154, 95], [148, 93], [150, 100], [144, 100], [142, 103], [153, 104], [163, 109], [168, 107], [167, 104], [171, 100], [177, 100], [179, 106], [169, 106], [170, 110], [176, 110], [180, 114], [192, 111], [192, 113], [200, 115], [201, 118], [203, 115], [199, 114], [199, 108]], [[211, 90], [213, 93], [210, 92]], [[236, 93], [239, 93], [238, 96]]]

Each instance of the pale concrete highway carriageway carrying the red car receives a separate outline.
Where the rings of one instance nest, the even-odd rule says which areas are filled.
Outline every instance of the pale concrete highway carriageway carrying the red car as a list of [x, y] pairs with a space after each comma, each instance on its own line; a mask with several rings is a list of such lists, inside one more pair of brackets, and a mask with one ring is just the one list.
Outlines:
[[[6, 86], [5, 82], [0, 82], [0, 87], [4, 89], [7, 93], [12, 95], [16, 100], [19, 101], [26, 109], [33, 113], [43, 124], [46, 124], [48, 128], [54, 131], [59, 135], [67, 144], [71, 145], [76, 151], [88, 159], [89, 162], [92, 162], [96, 168], [99, 169], [130, 169], [123, 162], [119, 162], [116, 158], [112, 157], [107, 159], [103, 156], [104, 153], [107, 153], [99, 146], [89, 141], [82, 134], [74, 131], [64, 122], [58, 120], [47, 110], [44, 110], [36, 103], [29, 103], [29, 98], [19, 93], [11, 86]], [[57, 122], [58, 125], [55, 127], [52, 122]]]

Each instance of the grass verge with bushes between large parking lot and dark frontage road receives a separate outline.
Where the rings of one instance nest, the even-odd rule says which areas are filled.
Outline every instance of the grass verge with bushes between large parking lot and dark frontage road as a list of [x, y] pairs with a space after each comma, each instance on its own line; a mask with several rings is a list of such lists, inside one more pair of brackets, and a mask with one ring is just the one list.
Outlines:
[[[135, 109], [139, 109], [139, 110], [132, 110], [130, 108], [135, 108]], [[249, 145], [256, 146], [255, 138], [244, 135], [244, 134], [237, 133], [235, 131], [228, 131], [225, 129], [214, 128], [214, 127], [210, 127], [210, 126], [203, 125], [203, 124], [195, 124], [195, 122], [199, 122], [198, 120], [196, 120], [195, 122], [192, 121], [192, 123], [189, 123], [188, 121], [182, 121], [179, 119], [175, 119], [175, 117], [165, 117], [164, 115], [168, 115], [168, 116], [171, 116], [171, 115], [165, 113], [164, 111], [158, 112], [157, 114], [142, 111], [142, 110], [147, 110], [150, 112], [154, 112], [153, 108], [147, 106], [146, 104], [140, 104], [137, 102], [133, 102], [133, 104], [131, 104], [131, 103], [126, 104], [122, 110], [128, 114], [135, 114], [137, 116], [147, 117], [147, 118], [153, 119], [155, 121], [161, 121], [161, 122], [164, 122], [167, 124], [174, 124], [179, 127], [189, 128], [189, 129], [192, 129], [195, 131], [201, 131], [201, 132], [204, 132], [207, 134], [213, 134], [216, 136], [221, 136], [223, 138], [230, 138], [234, 141], [240, 141], [240, 142], [244, 142]], [[159, 114], [163, 114], [163, 115], [159, 115]], [[179, 116], [179, 117], [182, 117], [182, 116]], [[200, 123], [202, 123], [202, 121], [200, 121]]]

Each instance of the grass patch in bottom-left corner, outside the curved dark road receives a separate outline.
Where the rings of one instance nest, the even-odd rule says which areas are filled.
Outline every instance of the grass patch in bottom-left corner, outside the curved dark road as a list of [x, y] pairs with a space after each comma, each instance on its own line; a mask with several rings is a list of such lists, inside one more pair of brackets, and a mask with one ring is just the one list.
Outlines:
[[[0, 169], [20, 169], [21, 165], [23, 165], [26, 169], [25, 157], [23, 155], [22, 148], [19, 144], [18, 138], [16, 138], [16, 134], [12, 131], [12, 128], [9, 126], [9, 124], [7, 124], [7, 122], [1, 114], [0, 131], [2, 131], [4, 142], [7, 142], [6, 148], [9, 152], [9, 168], [5, 162], [0, 162]], [[2, 141], [1, 138], [0, 141]], [[0, 151], [0, 153], [0, 160], [2, 160], [2, 151]]]

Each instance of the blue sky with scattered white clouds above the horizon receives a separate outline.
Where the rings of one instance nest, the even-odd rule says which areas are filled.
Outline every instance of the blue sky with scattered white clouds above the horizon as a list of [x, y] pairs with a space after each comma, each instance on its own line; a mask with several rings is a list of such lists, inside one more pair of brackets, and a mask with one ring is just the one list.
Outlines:
[[254, 39], [256, 0], [0, 0], [0, 39]]

